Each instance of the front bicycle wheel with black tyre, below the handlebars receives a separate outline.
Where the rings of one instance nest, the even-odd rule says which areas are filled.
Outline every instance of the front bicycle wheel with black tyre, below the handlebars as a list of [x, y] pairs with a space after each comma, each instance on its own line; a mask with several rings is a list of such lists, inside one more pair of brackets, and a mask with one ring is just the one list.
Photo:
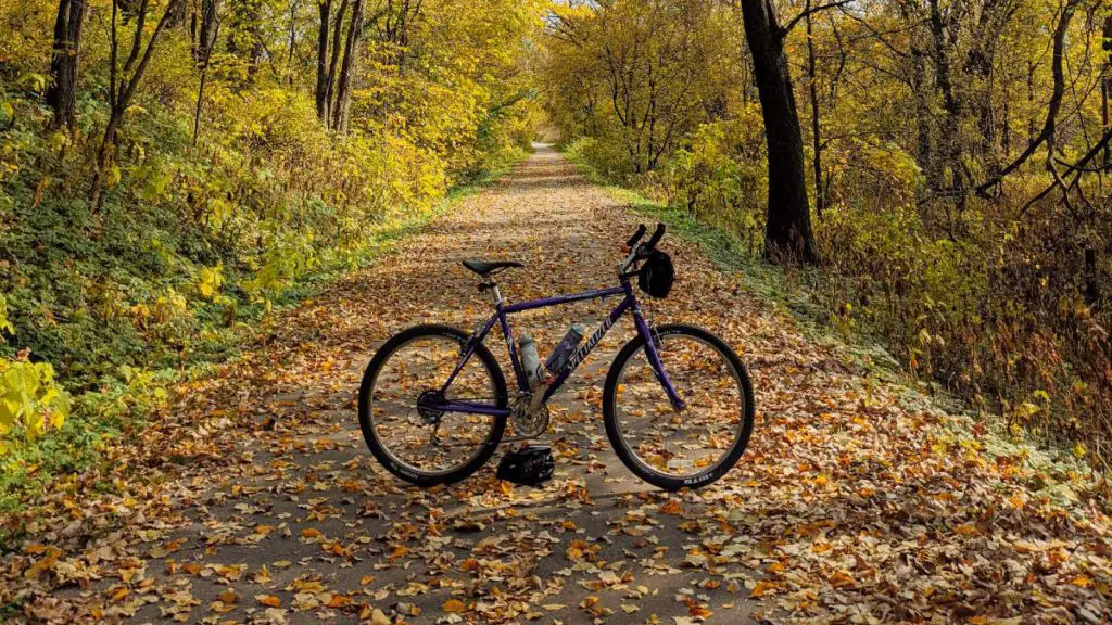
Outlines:
[[603, 417], [614, 452], [637, 477], [665, 490], [702, 488], [737, 463], [753, 433], [753, 385], [734, 350], [691, 326], [655, 333], [664, 370], [685, 408], [676, 410], [649, 364], [645, 341], [629, 341], [610, 366]]

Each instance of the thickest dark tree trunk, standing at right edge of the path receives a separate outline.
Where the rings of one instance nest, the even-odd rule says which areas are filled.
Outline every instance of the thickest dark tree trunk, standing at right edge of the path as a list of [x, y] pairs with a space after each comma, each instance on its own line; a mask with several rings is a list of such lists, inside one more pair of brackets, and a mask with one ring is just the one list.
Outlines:
[[765, 257], [814, 264], [818, 258], [811, 229], [803, 135], [784, 52], [784, 31], [771, 0], [743, 0], [742, 17], [768, 146]]

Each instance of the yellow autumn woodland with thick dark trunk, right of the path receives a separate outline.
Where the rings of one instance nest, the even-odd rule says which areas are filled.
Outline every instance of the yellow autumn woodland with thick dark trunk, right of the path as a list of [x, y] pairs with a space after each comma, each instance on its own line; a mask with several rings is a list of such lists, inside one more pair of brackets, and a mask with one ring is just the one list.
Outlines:
[[1112, 444], [1104, 2], [644, 1], [553, 12], [547, 119], [736, 232], [834, 325], [1016, 429]]

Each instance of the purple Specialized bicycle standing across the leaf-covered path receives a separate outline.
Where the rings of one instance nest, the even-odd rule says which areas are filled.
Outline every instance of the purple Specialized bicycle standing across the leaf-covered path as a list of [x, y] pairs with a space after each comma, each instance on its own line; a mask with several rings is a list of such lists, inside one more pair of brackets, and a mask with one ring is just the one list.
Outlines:
[[[485, 465], [502, 444], [509, 419], [518, 435], [514, 440], [544, 435], [547, 400], [631, 314], [637, 336], [615, 357], [603, 390], [603, 420], [614, 452], [637, 477], [666, 490], [701, 488], [724, 476], [753, 431], [753, 387], [745, 366], [721, 338], [693, 326], [651, 328], [646, 323], [632, 279], [638, 278], [651, 295], [667, 295], [671, 260], [656, 250], [664, 231], [661, 224], [639, 244], [646, 234], [642, 225], [626, 242], [619, 286], [519, 304], [503, 298], [494, 276], [523, 264], [465, 260], [481, 279], [479, 290], [493, 295], [494, 315], [469, 335], [449, 326], [417, 326], [378, 349], [359, 389], [359, 426], [377, 460], [410, 484], [431, 487], [461, 480]], [[666, 284], [653, 282], [654, 270]], [[508, 317], [612, 297], [622, 301], [586, 343], [550, 377], [530, 383]], [[516, 377], [513, 400], [497, 359], [484, 344], [496, 325]], [[682, 433], [684, 426], [694, 430]]]

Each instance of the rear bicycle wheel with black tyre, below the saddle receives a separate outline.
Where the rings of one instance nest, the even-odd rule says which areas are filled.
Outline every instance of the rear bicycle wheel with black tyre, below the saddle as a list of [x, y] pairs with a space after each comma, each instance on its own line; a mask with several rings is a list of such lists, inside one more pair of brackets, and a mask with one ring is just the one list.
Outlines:
[[[463, 355], [468, 336], [447, 326], [418, 326], [386, 341], [363, 377], [359, 428], [387, 470], [421, 487], [459, 482], [494, 454], [506, 417], [418, 409], [435, 396]], [[506, 380], [483, 345], [445, 393], [446, 399], [506, 408]]]

